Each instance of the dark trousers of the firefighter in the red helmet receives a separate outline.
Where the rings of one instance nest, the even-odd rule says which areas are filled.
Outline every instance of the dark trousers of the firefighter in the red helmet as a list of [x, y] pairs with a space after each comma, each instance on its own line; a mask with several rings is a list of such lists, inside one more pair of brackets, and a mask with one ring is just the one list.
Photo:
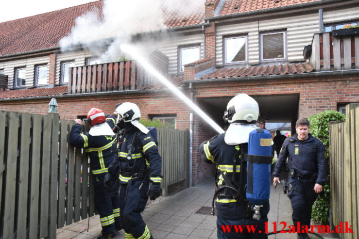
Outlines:
[[[120, 229], [120, 196], [119, 186], [115, 192], [104, 187], [103, 178], [106, 173], [94, 175], [95, 206], [100, 214], [102, 234], [108, 235]], [[118, 184], [119, 185], [119, 184]]]

